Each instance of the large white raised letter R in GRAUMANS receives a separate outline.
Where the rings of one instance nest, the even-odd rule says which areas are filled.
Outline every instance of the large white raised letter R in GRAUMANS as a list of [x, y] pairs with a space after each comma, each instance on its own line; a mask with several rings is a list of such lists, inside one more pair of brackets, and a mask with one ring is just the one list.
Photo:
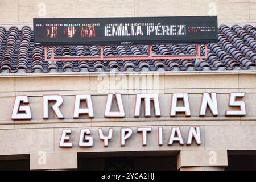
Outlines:
[[63, 98], [59, 95], [43, 96], [43, 118], [49, 118], [49, 101], [56, 101], [56, 103], [52, 106], [52, 110], [56, 114], [57, 118], [64, 119], [64, 116], [59, 108], [63, 104]]

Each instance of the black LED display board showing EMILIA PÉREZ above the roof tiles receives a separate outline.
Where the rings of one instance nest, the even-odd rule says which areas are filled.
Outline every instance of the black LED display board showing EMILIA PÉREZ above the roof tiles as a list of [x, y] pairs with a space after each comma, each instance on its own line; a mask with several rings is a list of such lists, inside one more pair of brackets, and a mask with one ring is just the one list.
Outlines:
[[217, 16], [34, 19], [34, 43], [40, 46], [217, 41]]

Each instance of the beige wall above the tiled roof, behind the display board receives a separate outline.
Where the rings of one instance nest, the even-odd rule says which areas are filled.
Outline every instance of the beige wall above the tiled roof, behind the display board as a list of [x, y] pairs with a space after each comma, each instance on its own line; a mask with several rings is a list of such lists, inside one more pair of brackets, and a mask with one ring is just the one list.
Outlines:
[[255, 23], [256, 0], [0, 0], [0, 24], [33, 18], [218, 15], [219, 23]]

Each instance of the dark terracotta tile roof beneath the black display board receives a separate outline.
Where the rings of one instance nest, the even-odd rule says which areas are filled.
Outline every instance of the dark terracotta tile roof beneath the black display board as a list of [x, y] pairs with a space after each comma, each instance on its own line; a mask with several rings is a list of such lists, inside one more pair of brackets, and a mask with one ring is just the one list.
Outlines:
[[[208, 44], [208, 59], [44, 61], [44, 49], [33, 46], [34, 32], [24, 26], [0, 27], [0, 72], [186, 71], [256, 69], [256, 28], [222, 24], [218, 43]], [[201, 52], [205, 49], [201, 47]], [[104, 55], [147, 55], [147, 45], [105, 46]], [[195, 45], [153, 45], [153, 55], [195, 54]], [[55, 56], [100, 56], [99, 46], [55, 46]], [[51, 56], [51, 48], [47, 49]]]

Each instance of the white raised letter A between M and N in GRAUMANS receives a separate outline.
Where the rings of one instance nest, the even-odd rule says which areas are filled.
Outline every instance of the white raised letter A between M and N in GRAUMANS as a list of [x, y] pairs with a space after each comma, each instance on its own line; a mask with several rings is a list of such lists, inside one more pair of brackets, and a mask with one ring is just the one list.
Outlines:
[[[177, 107], [177, 99], [178, 98], [183, 99], [183, 104], [184, 104], [183, 107]], [[174, 93], [174, 94], [172, 94], [172, 103], [171, 103], [170, 116], [171, 117], [176, 116], [177, 112], [185, 113], [185, 116], [190, 116], [191, 115], [187, 93]]]

